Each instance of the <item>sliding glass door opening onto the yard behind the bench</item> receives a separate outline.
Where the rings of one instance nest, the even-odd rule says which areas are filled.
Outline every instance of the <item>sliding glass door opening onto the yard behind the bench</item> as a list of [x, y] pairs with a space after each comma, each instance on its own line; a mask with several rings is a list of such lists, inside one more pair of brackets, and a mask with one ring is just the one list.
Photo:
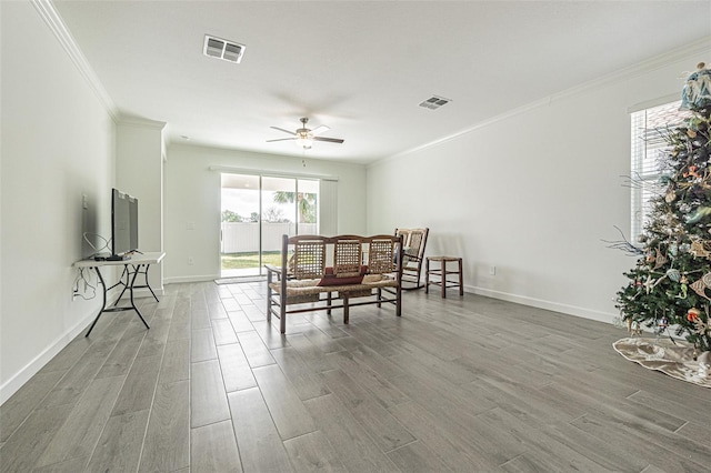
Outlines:
[[283, 234], [319, 233], [319, 180], [222, 173], [221, 278], [263, 275], [281, 264]]

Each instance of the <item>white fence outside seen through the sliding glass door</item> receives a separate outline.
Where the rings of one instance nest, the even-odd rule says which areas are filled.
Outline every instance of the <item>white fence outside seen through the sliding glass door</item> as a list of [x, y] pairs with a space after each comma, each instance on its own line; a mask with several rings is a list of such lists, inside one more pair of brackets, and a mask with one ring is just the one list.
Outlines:
[[[262, 222], [262, 251], [281, 251], [281, 235], [297, 234], [296, 223]], [[317, 234], [316, 223], [299, 223], [299, 234]], [[259, 251], [259, 223], [222, 222], [222, 253], [252, 253]]]

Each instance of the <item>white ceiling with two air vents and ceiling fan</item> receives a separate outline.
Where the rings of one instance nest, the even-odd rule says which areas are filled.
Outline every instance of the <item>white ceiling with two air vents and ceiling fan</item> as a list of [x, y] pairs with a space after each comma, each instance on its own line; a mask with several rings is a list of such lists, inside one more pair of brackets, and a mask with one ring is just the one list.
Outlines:
[[[169, 140], [301, 157], [291, 141], [266, 141], [288, 138], [270, 125], [309, 117], [346, 142], [307, 157], [359, 163], [711, 34], [709, 0], [54, 6], [119, 112], [167, 122]], [[246, 44], [241, 63], [202, 56], [206, 33]], [[433, 94], [452, 102], [418, 107]]]

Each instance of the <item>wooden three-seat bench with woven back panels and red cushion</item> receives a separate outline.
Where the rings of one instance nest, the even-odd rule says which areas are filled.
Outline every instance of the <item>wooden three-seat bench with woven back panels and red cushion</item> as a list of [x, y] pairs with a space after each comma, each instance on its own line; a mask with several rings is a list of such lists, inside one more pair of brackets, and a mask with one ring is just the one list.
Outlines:
[[[281, 268], [267, 264], [267, 321], [287, 314], [383, 302], [402, 314], [402, 236], [282, 236]], [[359, 299], [358, 302], [351, 299]], [[293, 308], [293, 305], [298, 305]], [[291, 308], [290, 308], [291, 306]]]

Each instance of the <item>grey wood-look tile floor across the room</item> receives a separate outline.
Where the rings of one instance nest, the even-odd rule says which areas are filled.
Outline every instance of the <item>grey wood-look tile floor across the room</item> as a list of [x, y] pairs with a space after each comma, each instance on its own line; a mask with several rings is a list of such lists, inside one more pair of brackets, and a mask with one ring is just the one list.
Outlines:
[[101, 318], [0, 407], [2, 472], [709, 472], [711, 391], [611, 325], [423, 291], [266, 322], [264, 283]]

